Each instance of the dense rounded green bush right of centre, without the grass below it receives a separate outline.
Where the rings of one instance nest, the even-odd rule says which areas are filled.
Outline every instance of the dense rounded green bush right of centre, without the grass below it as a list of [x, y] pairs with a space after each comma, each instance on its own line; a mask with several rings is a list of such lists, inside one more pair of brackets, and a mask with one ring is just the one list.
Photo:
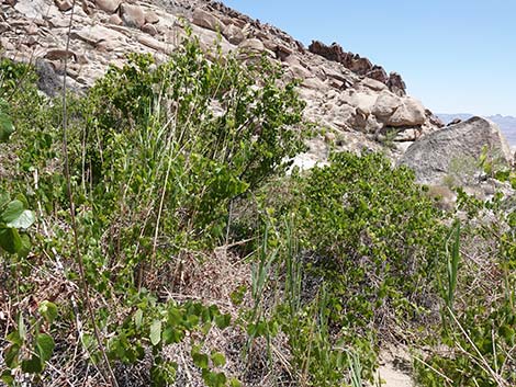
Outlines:
[[412, 171], [343, 152], [301, 184], [302, 242], [330, 284], [335, 321], [367, 327], [429, 306], [447, 227]]

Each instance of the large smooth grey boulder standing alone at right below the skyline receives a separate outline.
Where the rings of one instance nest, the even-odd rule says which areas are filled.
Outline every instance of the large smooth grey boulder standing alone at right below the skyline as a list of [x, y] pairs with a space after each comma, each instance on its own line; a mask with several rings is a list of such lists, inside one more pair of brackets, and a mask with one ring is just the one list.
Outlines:
[[513, 162], [508, 144], [497, 125], [485, 118], [472, 117], [414, 143], [400, 163], [412, 168], [419, 183], [438, 185], [450, 172], [460, 173], [451, 171], [453, 164], [464, 168], [474, 164], [485, 147], [493, 162], [507, 166]]

